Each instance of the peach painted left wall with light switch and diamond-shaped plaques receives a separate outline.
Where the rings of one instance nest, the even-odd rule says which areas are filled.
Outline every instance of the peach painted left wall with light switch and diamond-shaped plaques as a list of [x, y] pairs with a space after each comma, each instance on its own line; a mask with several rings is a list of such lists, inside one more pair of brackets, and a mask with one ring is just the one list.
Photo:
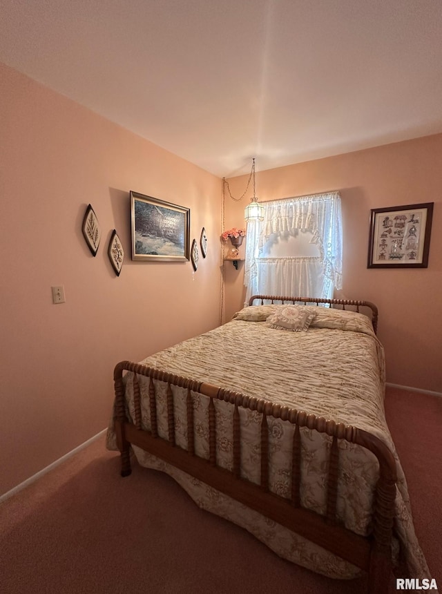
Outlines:
[[[1, 494], [106, 427], [115, 363], [218, 325], [221, 181], [1, 64], [0, 147]], [[191, 208], [191, 238], [209, 237], [196, 273], [131, 261], [130, 190]], [[52, 305], [51, 285], [66, 303]]]

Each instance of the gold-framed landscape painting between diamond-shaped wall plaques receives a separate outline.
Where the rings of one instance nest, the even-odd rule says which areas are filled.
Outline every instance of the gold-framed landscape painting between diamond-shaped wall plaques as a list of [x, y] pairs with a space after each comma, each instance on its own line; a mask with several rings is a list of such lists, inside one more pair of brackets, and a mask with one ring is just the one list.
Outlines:
[[132, 260], [189, 260], [190, 212], [131, 191]]

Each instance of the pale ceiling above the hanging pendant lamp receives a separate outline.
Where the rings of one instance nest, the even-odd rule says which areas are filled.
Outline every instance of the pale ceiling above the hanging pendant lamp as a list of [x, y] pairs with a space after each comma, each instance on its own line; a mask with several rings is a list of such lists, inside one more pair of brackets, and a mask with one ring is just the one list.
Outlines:
[[221, 177], [442, 132], [441, 0], [0, 0], [0, 61]]

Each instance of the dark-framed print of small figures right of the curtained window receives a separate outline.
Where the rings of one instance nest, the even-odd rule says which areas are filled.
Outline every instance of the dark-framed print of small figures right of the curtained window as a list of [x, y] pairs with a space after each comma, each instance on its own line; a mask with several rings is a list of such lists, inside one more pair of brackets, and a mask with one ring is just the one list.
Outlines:
[[433, 205], [372, 209], [367, 268], [427, 268]]

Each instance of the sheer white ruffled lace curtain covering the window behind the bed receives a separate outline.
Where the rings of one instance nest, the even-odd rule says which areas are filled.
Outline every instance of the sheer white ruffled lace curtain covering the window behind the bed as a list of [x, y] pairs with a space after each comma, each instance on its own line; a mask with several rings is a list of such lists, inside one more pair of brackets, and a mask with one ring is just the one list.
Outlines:
[[[262, 202], [264, 220], [247, 224], [244, 285], [255, 294], [332, 298], [342, 287], [342, 215], [338, 192]], [[311, 233], [319, 257], [269, 258], [280, 238]], [[266, 249], [265, 249], [266, 248]]]

